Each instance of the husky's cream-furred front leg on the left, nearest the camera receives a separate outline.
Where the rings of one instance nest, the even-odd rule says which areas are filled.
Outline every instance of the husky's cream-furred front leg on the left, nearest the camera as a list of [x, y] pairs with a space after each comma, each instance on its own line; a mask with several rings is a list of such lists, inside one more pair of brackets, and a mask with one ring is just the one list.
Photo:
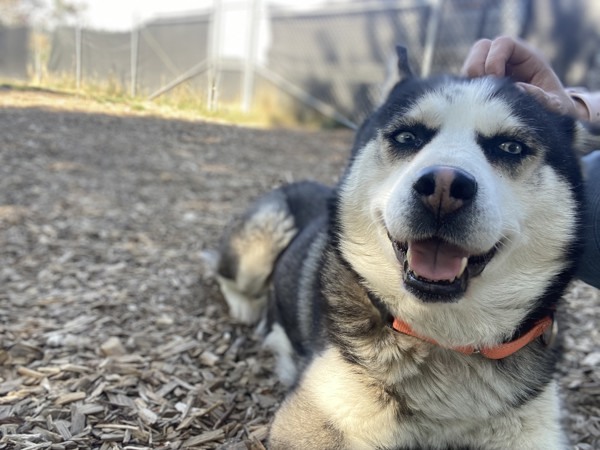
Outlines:
[[[269, 448], [392, 448], [397, 407], [373, 379], [330, 348], [315, 357], [273, 421]], [[400, 442], [400, 444], [404, 444]]]

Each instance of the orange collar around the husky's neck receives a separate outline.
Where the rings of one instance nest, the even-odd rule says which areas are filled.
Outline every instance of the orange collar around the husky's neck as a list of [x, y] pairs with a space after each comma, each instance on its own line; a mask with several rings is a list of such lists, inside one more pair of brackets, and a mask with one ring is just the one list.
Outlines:
[[[551, 331], [551, 335], [549, 336], [548, 339], [544, 340], [544, 343], [547, 343], [547, 345], [550, 345], [552, 343], [552, 339], [554, 338], [554, 335], [556, 333], [556, 328], [553, 327], [554, 323], [555, 322], [552, 319], [552, 317], [550, 317], [550, 316], [544, 317], [543, 319], [540, 319], [539, 321], [537, 321], [535, 323], [535, 325], [533, 325], [533, 327], [527, 333], [523, 334], [521, 337], [519, 337], [513, 341], [507, 342], [505, 344], [500, 344], [496, 347], [477, 349], [475, 347], [469, 346], [469, 347], [450, 347], [450, 349], [455, 350], [460, 353], [463, 353], [465, 355], [472, 355], [473, 353], [479, 353], [480, 355], [485, 356], [486, 358], [489, 358], [489, 359], [506, 358], [507, 356], [510, 356], [513, 353], [521, 350], [527, 344], [531, 343], [534, 339], [544, 335], [544, 333], [546, 333], [546, 331]], [[418, 339], [421, 339], [422, 341], [426, 341], [431, 344], [440, 345], [433, 339], [430, 339], [428, 337], [421, 336], [420, 334], [415, 333], [409, 324], [407, 324], [406, 322], [403, 322], [402, 320], [400, 320], [398, 318], [394, 318], [394, 323], [392, 324], [392, 328], [394, 330], [398, 331], [399, 333], [406, 334], [406, 335], [412, 336], [412, 337], [416, 337]]]

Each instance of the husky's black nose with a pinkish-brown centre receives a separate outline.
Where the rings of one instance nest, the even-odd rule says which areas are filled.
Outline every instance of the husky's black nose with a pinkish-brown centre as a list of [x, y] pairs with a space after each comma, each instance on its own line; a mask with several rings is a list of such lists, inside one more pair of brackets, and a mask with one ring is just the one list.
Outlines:
[[413, 190], [428, 209], [442, 217], [473, 201], [477, 181], [458, 167], [431, 166], [419, 172]]

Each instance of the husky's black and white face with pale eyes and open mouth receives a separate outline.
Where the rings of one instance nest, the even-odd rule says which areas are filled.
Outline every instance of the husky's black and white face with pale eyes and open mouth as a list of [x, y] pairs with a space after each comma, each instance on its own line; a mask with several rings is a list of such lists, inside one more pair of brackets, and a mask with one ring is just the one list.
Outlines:
[[576, 134], [507, 80], [398, 83], [340, 188], [344, 259], [442, 345], [509, 338], [573, 270]]

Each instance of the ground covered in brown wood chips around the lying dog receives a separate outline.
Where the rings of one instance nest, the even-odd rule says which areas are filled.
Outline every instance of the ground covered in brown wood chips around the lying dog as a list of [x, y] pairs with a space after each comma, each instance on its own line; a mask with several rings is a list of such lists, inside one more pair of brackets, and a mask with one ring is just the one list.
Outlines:
[[[263, 448], [284, 391], [203, 255], [261, 192], [334, 182], [351, 139], [0, 89], [0, 449]], [[598, 291], [562, 316], [565, 426], [598, 449]]]

